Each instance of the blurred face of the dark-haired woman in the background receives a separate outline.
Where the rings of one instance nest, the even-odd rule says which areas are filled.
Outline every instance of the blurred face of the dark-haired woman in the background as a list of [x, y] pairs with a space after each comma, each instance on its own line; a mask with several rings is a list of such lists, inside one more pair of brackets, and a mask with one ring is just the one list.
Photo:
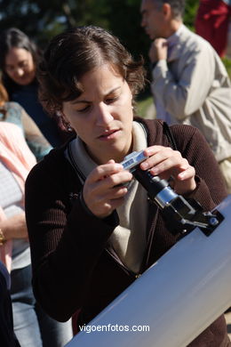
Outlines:
[[6, 74], [18, 85], [29, 85], [36, 77], [32, 54], [24, 48], [12, 48], [4, 63]]

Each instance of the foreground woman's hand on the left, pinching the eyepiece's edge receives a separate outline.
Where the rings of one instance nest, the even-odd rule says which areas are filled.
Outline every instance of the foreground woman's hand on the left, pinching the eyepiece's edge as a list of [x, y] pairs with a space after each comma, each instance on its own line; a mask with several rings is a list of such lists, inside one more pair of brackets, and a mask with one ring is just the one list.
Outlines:
[[127, 193], [127, 188], [123, 184], [131, 180], [132, 174], [114, 160], [97, 166], [84, 183], [85, 205], [97, 217], [108, 217], [123, 204], [123, 197]]

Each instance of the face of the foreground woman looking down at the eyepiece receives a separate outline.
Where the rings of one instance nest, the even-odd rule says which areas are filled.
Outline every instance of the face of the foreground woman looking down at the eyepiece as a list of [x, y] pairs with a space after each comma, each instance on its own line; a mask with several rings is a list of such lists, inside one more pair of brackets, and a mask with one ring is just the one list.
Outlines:
[[92, 159], [104, 164], [123, 160], [131, 149], [131, 89], [108, 64], [87, 72], [75, 101], [63, 102], [63, 114], [84, 141]]

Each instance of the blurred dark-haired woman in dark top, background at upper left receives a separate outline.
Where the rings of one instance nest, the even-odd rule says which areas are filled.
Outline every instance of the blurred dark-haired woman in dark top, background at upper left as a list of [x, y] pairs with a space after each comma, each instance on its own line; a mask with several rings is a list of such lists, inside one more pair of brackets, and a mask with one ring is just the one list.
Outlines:
[[44, 112], [37, 98], [36, 66], [40, 50], [20, 29], [8, 28], [0, 35], [0, 52], [0, 69], [10, 101], [20, 103], [52, 147], [59, 146], [67, 133]]

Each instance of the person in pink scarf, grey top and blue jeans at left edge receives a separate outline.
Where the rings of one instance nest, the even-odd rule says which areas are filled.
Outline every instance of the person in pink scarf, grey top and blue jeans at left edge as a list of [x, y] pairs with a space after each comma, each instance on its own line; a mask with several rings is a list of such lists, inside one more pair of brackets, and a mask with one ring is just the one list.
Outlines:
[[21, 347], [62, 347], [72, 337], [71, 322], [63, 324], [47, 316], [31, 286], [24, 183], [35, 164], [20, 127], [0, 122], [0, 259], [11, 271], [14, 332]]

